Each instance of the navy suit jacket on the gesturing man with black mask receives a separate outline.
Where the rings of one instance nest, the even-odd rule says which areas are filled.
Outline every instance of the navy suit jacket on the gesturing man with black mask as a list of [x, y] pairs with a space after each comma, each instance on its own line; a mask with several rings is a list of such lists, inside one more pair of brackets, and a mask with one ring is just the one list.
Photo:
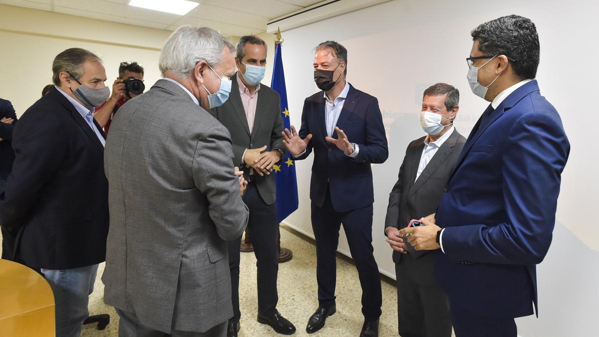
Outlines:
[[[303, 139], [312, 134], [312, 139], [305, 154], [295, 159], [302, 160], [314, 151], [310, 199], [322, 207], [329, 186], [334, 209], [349, 212], [374, 203], [370, 164], [384, 163], [389, 157], [379, 101], [350, 85], [337, 127], [343, 130], [349, 142], [358, 144], [359, 152], [355, 158], [347, 157], [337, 146], [325, 140], [324, 92], [319, 91], [306, 98], [299, 136]], [[338, 138], [336, 131], [332, 137]]]

